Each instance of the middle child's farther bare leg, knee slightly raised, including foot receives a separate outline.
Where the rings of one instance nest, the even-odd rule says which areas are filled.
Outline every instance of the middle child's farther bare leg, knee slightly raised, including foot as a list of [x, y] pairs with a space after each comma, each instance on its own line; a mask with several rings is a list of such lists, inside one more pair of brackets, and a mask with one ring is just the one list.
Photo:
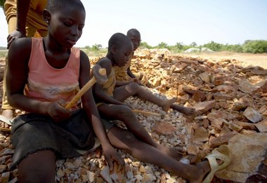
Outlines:
[[153, 93], [151, 93], [149, 90], [146, 90], [137, 83], [129, 83], [128, 85], [117, 87], [115, 88], [113, 93], [113, 97], [121, 102], [133, 95], [137, 95], [142, 100], [147, 100], [149, 102], [157, 104], [159, 107], [162, 107], [164, 111], [168, 111], [171, 104], [176, 102], [176, 97], [172, 98], [171, 100], [163, 100], [153, 95]]

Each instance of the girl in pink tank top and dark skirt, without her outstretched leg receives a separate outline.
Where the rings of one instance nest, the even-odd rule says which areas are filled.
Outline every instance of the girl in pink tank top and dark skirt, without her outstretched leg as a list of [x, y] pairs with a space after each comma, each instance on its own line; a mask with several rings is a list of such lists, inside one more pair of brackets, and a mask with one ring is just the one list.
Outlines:
[[82, 2], [48, 0], [43, 15], [47, 36], [16, 39], [8, 50], [8, 103], [27, 112], [12, 123], [11, 169], [18, 165], [19, 182], [55, 182], [56, 158], [88, 152], [96, 137], [110, 168], [112, 161], [124, 165], [100, 122], [91, 89], [82, 96], [83, 109], [63, 107], [90, 79], [87, 55], [72, 48], [84, 27]]

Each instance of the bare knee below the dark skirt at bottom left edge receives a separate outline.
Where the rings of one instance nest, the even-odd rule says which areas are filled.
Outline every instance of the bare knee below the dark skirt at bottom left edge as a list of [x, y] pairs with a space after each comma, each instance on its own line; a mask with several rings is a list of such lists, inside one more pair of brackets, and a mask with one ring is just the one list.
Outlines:
[[55, 182], [56, 156], [53, 151], [29, 154], [18, 165], [19, 182]]

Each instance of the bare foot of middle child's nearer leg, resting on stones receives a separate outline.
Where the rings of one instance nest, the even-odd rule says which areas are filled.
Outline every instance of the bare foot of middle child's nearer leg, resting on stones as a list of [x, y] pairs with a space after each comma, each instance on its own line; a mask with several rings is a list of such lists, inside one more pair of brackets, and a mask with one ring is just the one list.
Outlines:
[[179, 161], [183, 157], [183, 154], [185, 154], [185, 149], [181, 147], [165, 147], [161, 144], [158, 144], [157, 149], [159, 149], [159, 151], [162, 151], [164, 154], [167, 154], [168, 156], [176, 159], [177, 161]]

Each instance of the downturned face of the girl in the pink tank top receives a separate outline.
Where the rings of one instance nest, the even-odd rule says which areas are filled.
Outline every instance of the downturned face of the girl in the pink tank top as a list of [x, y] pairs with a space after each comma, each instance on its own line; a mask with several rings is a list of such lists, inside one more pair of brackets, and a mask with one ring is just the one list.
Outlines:
[[51, 13], [48, 34], [59, 46], [72, 48], [82, 36], [85, 21], [84, 10], [65, 7]]

